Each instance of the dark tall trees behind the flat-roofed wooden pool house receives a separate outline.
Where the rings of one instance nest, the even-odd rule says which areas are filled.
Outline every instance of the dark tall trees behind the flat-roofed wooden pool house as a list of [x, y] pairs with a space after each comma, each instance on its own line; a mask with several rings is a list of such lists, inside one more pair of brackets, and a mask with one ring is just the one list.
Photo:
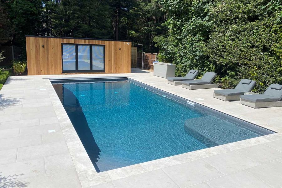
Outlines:
[[132, 40], [157, 52], [165, 13], [155, 0], [1, 0], [0, 44], [25, 35]]

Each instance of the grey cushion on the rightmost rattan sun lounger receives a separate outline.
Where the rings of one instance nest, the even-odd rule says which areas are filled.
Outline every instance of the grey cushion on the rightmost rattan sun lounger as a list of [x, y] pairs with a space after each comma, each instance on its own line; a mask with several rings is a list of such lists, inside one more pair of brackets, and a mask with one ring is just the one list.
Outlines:
[[264, 94], [258, 95], [241, 95], [240, 99], [251, 102], [271, 102], [282, 100], [282, 85], [271, 84]]

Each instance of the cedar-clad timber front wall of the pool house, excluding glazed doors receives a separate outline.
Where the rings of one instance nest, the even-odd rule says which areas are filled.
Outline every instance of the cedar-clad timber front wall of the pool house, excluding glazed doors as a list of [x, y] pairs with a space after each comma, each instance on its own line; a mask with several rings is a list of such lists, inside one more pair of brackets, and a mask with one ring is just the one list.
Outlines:
[[90, 74], [131, 71], [131, 42], [26, 36], [28, 75], [87, 74], [62, 73], [62, 43], [105, 45], [105, 72], [89, 72]]

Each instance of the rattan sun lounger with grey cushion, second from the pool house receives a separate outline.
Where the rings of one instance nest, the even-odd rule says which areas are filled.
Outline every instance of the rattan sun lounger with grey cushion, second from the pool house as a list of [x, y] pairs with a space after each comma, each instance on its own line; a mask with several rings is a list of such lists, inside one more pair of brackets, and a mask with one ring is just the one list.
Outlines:
[[212, 84], [212, 81], [217, 76], [215, 72], [206, 72], [200, 80], [181, 81], [181, 85], [186, 89], [208, 89], [218, 88], [218, 84]]

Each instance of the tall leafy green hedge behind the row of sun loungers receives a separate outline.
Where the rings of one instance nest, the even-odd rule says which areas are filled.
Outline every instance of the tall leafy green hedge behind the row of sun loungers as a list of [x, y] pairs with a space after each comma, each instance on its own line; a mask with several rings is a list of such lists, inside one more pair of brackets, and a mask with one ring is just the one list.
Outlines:
[[160, 60], [189, 69], [215, 71], [224, 88], [242, 78], [254, 91], [282, 84], [281, 0], [160, 0], [169, 32], [155, 38]]

